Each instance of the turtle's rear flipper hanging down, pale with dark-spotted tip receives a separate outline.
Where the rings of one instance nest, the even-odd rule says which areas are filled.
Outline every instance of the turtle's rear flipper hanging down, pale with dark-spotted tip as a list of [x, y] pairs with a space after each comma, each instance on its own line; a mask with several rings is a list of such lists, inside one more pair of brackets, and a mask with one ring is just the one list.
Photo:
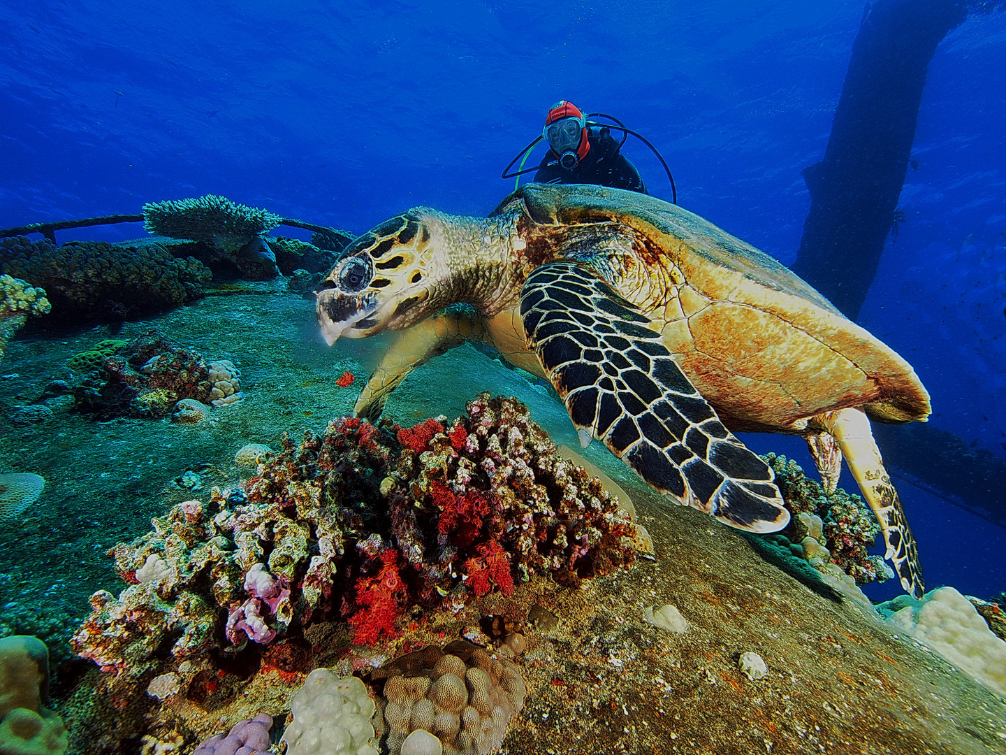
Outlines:
[[814, 419], [835, 436], [849, 471], [876, 514], [887, 546], [884, 558], [894, 565], [901, 588], [912, 597], [921, 598], [926, 586], [918, 562], [918, 546], [908, 527], [897, 490], [891, 484], [890, 475], [880, 458], [880, 449], [873, 440], [873, 430], [866, 413], [859, 407], [852, 407], [825, 412]]

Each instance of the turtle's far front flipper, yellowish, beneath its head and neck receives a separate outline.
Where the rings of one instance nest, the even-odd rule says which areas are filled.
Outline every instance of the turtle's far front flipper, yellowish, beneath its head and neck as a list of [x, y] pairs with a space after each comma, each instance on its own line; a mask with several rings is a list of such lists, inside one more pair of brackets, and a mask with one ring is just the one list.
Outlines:
[[439, 312], [405, 328], [367, 380], [353, 407], [353, 416], [376, 422], [391, 392], [409, 372], [466, 340], [483, 338], [484, 331], [481, 317], [450, 311]]

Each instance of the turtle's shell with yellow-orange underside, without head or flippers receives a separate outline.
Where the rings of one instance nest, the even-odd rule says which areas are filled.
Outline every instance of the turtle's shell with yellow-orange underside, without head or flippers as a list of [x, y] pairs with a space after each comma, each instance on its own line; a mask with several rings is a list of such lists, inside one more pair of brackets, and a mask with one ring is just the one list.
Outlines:
[[802, 432], [806, 419], [847, 407], [881, 422], [929, 416], [929, 395], [904, 359], [777, 260], [702, 217], [588, 184], [528, 184], [497, 211], [516, 199], [528, 236], [617, 223], [634, 237], [640, 268], [664, 268], [644, 274], [660, 286], [620, 293], [654, 321], [731, 429]]

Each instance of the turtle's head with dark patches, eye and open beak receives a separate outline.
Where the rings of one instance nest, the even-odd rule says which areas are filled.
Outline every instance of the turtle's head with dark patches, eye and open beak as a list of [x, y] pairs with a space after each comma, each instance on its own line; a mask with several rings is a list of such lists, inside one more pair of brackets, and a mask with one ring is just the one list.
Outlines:
[[415, 210], [395, 215], [354, 240], [315, 290], [318, 322], [329, 345], [340, 335], [365, 338], [412, 324], [429, 298], [423, 254], [430, 229]]

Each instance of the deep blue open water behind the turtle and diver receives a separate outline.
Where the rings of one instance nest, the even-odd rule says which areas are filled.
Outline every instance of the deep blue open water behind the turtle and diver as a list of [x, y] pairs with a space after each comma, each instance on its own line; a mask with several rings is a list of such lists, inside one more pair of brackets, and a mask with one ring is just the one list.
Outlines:
[[[415, 204], [484, 214], [561, 98], [649, 138], [683, 206], [794, 261], [809, 206], [800, 171], [824, 152], [863, 0], [363, 5], [0, 3], [0, 226], [205, 193], [356, 232]], [[860, 316], [912, 362], [934, 425], [998, 458], [1004, 60], [1004, 12], [971, 17], [938, 48], [905, 221]], [[669, 198], [656, 159], [633, 140], [625, 153]], [[752, 445], [785, 451], [778, 441]], [[1006, 532], [901, 492], [931, 585], [1006, 589]]]

